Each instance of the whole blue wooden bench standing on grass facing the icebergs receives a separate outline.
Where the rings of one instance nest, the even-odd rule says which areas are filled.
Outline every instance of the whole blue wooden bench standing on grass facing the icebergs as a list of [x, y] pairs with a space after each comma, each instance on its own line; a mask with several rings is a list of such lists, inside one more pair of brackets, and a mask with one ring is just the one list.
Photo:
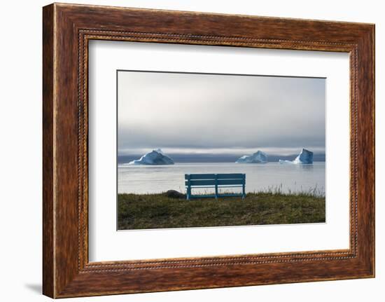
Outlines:
[[[246, 174], [185, 174], [187, 200], [191, 198], [218, 198], [241, 196], [245, 198]], [[192, 188], [215, 188], [214, 194], [193, 195]], [[242, 188], [241, 193], [218, 193], [218, 188]]]

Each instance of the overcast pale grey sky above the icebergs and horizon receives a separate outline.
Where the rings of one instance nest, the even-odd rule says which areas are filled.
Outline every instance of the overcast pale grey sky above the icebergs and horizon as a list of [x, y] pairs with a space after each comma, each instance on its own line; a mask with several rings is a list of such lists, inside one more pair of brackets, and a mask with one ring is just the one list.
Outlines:
[[325, 78], [118, 72], [118, 154], [325, 152]]

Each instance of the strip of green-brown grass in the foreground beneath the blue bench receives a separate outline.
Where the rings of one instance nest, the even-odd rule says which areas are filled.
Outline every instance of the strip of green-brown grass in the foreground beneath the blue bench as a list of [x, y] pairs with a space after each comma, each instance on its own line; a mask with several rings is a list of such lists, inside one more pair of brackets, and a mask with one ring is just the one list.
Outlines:
[[160, 194], [119, 194], [118, 229], [250, 226], [325, 222], [325, 197], [267, 191], [246, 198], [172, 199]]

